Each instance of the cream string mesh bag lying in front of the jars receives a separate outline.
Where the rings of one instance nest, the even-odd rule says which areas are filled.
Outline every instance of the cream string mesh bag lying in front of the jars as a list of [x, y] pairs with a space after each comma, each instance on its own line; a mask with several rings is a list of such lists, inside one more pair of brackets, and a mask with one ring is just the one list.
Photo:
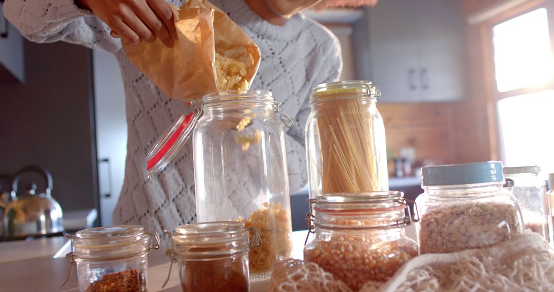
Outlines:
[[[316, 264], [293, 259], [275, 265], [269, 291], [352, 292]], [[360, 291], [554, 291], [554, 253], [539, 234], [525, 233], [490, 248], [421, 255]]]

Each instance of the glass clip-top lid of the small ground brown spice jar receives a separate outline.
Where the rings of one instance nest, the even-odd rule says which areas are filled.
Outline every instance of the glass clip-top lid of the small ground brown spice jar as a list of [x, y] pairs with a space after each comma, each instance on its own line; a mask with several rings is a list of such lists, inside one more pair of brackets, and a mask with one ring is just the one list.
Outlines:
[[[254, 233], [252, 241], [250, 232]], [[258, 232], [245, 227], [244, 222], [189, 223], [167, 234], [171, 236], [175, 255], [186, 258], [213, 258], [248, 252], [251, 246], [261, 244]]]

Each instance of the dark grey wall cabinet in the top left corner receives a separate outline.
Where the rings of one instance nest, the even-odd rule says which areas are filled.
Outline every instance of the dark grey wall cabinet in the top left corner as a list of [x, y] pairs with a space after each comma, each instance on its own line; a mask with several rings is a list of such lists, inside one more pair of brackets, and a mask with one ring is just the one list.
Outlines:
[[[3, 2], [3, 1], [2, 1]], [[0, 83], [25, 80], [23, 37], [2, 14], [0, 2]]]

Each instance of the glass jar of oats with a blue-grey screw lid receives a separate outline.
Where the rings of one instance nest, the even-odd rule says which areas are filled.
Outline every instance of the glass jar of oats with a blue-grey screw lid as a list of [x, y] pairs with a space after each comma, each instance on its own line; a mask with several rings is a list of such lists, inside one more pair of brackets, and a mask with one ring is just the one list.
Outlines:
[[524, 231], [520, 208], [503, 188], [501, 162], [425, 166], [422, 179], [420, 254], [490, 247]]

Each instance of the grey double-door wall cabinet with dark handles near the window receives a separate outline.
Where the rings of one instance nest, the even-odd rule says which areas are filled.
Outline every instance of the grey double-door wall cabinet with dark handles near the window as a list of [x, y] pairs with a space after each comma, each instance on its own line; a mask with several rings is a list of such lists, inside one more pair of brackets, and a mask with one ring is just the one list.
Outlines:
[[462, 1], [387, 0], [354, 25], [358, 79], [381, 88], [380, 102], [442, 102], [465, 91]]

